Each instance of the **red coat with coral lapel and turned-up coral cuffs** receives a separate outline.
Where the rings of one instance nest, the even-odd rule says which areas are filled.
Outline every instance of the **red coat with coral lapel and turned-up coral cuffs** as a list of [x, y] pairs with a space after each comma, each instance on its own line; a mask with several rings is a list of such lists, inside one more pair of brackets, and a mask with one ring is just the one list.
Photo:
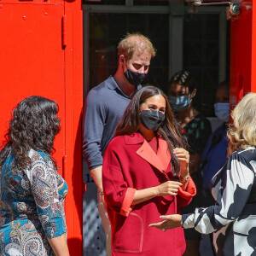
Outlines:
[[112, 226], [114, 256], [180, 256], [185, 250], [183, 229], [157, 230], [148, 224], [160, 215], [180, 212], [195, 195], [191, 178], [186, 191], [177, 196], [158, 196], [131, 207], [136, 189], [154, 187], [173, 180], [171, 155], [159, 138], [157, 154], [140, 133], [113, 138], [103, 158], [102, 182]]

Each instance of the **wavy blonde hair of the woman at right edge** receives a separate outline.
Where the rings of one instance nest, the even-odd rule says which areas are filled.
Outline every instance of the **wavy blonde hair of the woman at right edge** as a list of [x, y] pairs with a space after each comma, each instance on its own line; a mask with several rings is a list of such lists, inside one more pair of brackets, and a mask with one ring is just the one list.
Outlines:
[[229, 156], [237, 149], [256, 146], [256, 93], [250, 92], [244, 96], [231, 117], [233, 124], [227, 133], [230, 140]]

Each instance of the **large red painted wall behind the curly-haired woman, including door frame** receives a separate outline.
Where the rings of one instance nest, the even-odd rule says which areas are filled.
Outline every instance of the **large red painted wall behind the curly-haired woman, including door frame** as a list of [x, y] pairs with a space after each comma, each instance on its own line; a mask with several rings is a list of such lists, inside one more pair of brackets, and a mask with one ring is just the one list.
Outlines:
[[82, 255], [82, 37], [80, 1], [0, 2], [0, 143], [10, 113], [22, 99], [40, 95], [58, 102], [61, 133], [55, 139], [55, 159], [69, 188], [71, 255]]

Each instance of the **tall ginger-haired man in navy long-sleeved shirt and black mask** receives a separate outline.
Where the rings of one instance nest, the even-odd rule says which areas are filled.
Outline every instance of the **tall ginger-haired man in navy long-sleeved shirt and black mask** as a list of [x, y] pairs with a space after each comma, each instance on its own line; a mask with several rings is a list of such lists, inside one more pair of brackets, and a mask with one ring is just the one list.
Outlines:
[[111, 255], [111, 226], [102, 189], [102, 155], [113, 137], [131, 94], [141, 88], [155, 55], [150, 40], [139, 33], [127, 34], [119, 42], [119, 64], [114, 76], [90, 90], [84, 103], [83, 154], [97, 186], [98, 210]]

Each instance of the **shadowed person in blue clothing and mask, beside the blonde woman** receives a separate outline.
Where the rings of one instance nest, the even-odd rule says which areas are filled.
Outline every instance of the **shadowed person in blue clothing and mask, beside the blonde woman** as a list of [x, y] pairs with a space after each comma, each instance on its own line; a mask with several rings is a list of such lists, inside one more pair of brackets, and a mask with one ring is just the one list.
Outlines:
[[[215, 203], [212, 197], [210, 183], [212, 177], [224, 166], [224, 163], [228, 159], [229, 141], [227, 131], [230, 120], [230, 84], [226, 81], [218, 85], [214, 108], [215, 115], [222, 124], [216, 131], [212, 132], [201, 156], [204, 195], [203, 207], [209, 207]], [[212, 234], [201, 236], [200, 251], [207, 252], [208, 256], [214, 255]]]

